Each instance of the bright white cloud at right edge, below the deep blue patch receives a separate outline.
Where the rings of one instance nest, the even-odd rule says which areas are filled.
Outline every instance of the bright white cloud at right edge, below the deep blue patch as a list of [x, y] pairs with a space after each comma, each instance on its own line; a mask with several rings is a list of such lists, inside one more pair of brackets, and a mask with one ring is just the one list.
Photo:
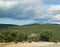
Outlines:
[[60, 5], [50, 5], [47, 9], [52, 20], [60, 20]]

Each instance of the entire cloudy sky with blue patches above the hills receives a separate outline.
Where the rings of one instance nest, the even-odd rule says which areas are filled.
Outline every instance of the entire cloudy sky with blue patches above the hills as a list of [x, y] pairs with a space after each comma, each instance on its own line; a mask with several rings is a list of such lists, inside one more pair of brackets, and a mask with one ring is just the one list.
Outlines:
[[0, 24], [60, 24], [60, 0], [0, 0]]

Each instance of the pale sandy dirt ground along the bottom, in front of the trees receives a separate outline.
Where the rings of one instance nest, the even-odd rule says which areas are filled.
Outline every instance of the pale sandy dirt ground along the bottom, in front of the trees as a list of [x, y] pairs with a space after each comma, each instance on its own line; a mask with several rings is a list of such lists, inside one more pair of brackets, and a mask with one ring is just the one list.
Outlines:
[[18, 44], [13, 43], [5, 47], [60, 47], [60, 43], [56, 44], [53, 42], [32, 42], [32, 43], [25, 42], [25, 43], [18, 43]]

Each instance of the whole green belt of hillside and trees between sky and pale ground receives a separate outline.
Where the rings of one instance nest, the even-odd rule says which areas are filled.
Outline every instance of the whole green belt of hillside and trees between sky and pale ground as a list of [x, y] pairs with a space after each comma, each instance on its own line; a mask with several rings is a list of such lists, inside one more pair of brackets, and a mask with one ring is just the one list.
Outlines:
[[36, 24], [10, 26], [0, 29], [0, 42], [11, 42], [15, 40], [19, 42], [27, 40], [60, 41], [60, 25]]

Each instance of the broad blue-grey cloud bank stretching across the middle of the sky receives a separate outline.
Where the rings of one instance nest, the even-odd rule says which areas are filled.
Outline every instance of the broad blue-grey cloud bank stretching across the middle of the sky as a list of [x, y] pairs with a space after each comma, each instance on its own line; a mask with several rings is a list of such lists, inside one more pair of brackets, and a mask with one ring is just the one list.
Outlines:
[[60, 14], [60, 11], [57, 10], [49, 12], [49, 7], [50, 6], [44, 5], [42, 2], [18, 2], [8, 10], [3, 10], [1, 8], [0, 18], [33, 19], [35, 21], [40, 21], [41, 23], [55, 22], [52, 16]]

